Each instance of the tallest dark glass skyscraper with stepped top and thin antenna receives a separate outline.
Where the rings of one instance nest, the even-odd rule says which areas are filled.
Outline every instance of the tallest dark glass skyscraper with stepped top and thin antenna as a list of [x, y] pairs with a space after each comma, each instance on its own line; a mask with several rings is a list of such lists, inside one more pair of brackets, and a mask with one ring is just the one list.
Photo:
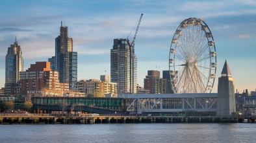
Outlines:
[[55, 38], [55, 56], [49, 58], [53, 71], [58, 71], [60, 83], [77, 82], [77, 52], [73, 52], [73, 39], [68, 37], [68, 27], [60, 27], [60, 36]]

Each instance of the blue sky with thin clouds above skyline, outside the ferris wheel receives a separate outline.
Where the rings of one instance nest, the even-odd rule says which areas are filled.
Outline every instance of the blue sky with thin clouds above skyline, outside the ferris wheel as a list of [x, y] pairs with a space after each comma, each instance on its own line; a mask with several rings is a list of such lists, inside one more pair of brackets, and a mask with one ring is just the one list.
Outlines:
[[[68, 27], [73, 51], [78, 52], [78, 80], [99, 80], [110, 75], [113, 39], [132, 40], [136, 23], [144, 14], [135, 41], [138, 84], [147, 71], [169, 70], [173, 34], [189, 18], [203, 19], [216, 47], [217, 70], [212, 93], [217, 92], [225, 60], [235, 80], [235, 90], [256, 89], [256, 1], [170, 0], [10, 0], [0, 2], [0, 87], [5, 86], [5, 56], [15, 38], [21, 46], [24, 71], [36, 61], [55, 56], [60, 23]], [[236, 91], [235, 91], [236, 92]]]

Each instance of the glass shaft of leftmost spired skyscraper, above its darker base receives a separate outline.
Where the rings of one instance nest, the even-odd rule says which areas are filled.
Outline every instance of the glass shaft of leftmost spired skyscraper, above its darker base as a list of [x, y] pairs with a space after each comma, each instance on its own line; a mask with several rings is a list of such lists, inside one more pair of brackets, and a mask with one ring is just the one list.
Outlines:
[[19, 72], [23, 71], [23, 57], [18, 41], [15, 39], [10, 45], [5, 57], [5, 83], [16, 83], [19, 80]]

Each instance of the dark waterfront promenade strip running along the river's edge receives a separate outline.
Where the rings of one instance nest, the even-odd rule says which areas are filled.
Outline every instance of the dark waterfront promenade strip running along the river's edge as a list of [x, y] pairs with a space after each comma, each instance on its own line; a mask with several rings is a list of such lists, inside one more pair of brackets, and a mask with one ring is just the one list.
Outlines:
[[0, 124], [255, 123], [256, 116], [136, 116], [0, 113]]

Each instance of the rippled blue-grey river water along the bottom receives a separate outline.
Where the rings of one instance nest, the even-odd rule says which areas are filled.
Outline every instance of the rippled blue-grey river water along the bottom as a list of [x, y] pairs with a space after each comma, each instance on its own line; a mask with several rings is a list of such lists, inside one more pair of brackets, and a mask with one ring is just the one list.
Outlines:
[[255, 142], [256, 124], [12, 124], [0, 142]]

